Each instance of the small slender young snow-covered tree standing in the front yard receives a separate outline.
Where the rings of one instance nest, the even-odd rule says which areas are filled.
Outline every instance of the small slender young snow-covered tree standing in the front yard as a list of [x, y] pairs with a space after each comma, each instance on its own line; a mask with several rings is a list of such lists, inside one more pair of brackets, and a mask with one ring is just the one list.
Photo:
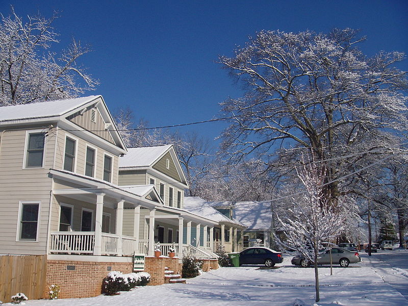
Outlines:
[[324, 193], [325, 169], [318, 164], [304, 164], [297, 171], [304, 189], [291, 198], [292, 205], [276, 217], [279, 231], [285, 239], [278, 243], [291, 251], [301, 253], [305, 260], [314, 263], [316, 301], [319, 297], [317, 259], [345, 228], [345, 220], [353, 215], [354, 206], [345, 197], [336, 205]]

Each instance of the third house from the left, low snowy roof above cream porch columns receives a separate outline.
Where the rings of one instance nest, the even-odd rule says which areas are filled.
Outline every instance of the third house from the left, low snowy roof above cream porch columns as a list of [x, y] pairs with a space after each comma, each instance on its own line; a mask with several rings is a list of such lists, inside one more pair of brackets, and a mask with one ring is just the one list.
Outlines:
[[238, 231], [242, 232], [246, 226], [238, 220], [224, 216], [212, 208], [209, 203], [200, 197], [185, 197], [184, 209], [197, 215], [218, 222], [214, 228], [214, 233], [210, 233], [208, 244], [213, 245], [213, 251], [221, 245], [226, 252], [235, 252], [242, 250], [242, 242]]

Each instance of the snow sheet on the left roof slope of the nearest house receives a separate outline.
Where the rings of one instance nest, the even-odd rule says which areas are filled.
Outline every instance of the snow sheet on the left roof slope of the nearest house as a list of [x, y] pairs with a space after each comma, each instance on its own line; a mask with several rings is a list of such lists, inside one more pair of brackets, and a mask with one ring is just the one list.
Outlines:
[[75, 108], [80, 107], [81, 105], [88, 103], [89, 101], [92, 101], [97, 97], [98, 96], [92, 95], [66, 100], [3, 106], [1, 107], [0, 111], [0, 122], [61, 116], [71, 110], [74, 110]]

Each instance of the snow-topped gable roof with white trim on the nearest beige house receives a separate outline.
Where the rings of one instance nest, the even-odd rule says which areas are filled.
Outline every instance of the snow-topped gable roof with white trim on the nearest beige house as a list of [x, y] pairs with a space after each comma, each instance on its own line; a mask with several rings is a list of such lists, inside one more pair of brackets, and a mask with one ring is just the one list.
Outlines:
[[88, 130], [85, 131], [89, 133], [83, 133], [83, 127], [79, 128], [77, 124], [67, 119], [70, 115], [83, 111], [87, 107], [95, 107], [103, 121], [107, 126], [110, 126], [109, 129], [107, 127], [106, 131], [110, 133], [114, 144], [109, 142], [106, 144], [116, 151], [115, 154], [124, 154], [126, 146], [101, 95], [3, 106], [0, 107], [0, 126], [45, 125], [58, 122], [60, 129], [68, 130], [73, 134], [77, 134], [78, 137], [101, 141], [101, 138], [96, 134]]

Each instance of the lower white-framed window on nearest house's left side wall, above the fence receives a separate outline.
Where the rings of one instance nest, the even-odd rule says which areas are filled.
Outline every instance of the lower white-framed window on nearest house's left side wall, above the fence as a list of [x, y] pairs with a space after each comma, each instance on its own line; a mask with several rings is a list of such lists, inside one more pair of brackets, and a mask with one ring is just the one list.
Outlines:
[[20, 202], [19, 214], [20, 223], [18, 240], [37, 241], [40, 203]]

